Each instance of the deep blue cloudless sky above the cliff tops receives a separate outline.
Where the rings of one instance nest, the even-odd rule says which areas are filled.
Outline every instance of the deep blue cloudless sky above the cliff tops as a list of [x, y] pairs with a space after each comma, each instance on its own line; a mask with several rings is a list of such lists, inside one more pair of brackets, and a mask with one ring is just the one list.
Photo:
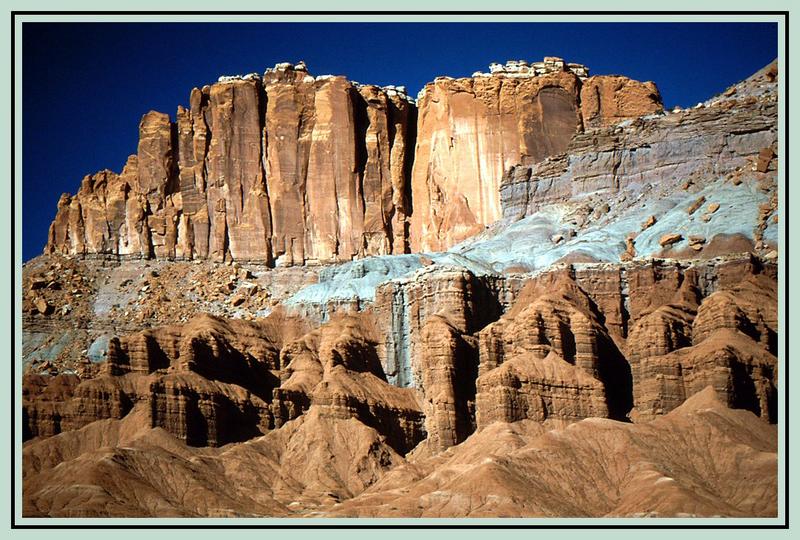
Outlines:
[[655, 81], [691, 106], [777, 57], [777, 25], [734, 23], [276, 23], [23, 25], [23, 260], [41, 253], [63, 192], [119, 172], [141, 116], [174, 119], [194, 86], [305, 60], [314, 75], [403, 84], [493, 61], [561, 56], [592, 74]]

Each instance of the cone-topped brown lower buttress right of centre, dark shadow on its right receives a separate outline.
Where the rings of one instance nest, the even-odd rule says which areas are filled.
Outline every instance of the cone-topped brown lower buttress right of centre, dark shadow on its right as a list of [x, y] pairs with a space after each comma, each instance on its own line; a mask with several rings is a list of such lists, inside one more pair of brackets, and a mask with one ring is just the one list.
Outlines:
[[624, 418], [630, 369], [568, 274], [532, 281], [480, 334], [479, 426], [525, 418]]

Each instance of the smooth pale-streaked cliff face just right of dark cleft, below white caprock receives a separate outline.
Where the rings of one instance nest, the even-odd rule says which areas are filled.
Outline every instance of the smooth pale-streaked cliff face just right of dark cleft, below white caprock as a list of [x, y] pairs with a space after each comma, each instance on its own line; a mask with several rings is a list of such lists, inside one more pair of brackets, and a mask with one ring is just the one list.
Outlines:
[[580, 127], [579, 80], [439, 78], [419, 99], [413, 251], [441, 251], [500, 217], [503, 172], [566, 149]]

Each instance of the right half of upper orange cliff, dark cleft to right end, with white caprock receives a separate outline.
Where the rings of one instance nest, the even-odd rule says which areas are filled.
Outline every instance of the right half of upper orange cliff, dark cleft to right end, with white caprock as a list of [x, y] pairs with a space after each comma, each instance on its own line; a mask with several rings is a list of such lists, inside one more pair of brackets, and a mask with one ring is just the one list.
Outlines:
[[418, 101], [411, 176], [412, 251], [441, 251], [502, 217], [501, 180], [515, 164], [561, 154], [584, 126], [662, 110], [653, 83], [586, 78], [559, 58], [493, 64], [492, 73], [440, 77]]

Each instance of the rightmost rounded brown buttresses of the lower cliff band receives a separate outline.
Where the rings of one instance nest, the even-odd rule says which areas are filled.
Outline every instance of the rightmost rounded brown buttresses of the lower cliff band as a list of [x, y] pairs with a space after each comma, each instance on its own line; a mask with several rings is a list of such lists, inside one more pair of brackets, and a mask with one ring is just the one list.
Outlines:
[[[731, 407], [777, 421], [777, 288], [759, 264], [702, 298], [692, 272], [674, 296], [633, 325], [628, 358], [635, 414], [651, 419], [713, 386]], [[702, 299], [701, 299], [702, 298]]]

